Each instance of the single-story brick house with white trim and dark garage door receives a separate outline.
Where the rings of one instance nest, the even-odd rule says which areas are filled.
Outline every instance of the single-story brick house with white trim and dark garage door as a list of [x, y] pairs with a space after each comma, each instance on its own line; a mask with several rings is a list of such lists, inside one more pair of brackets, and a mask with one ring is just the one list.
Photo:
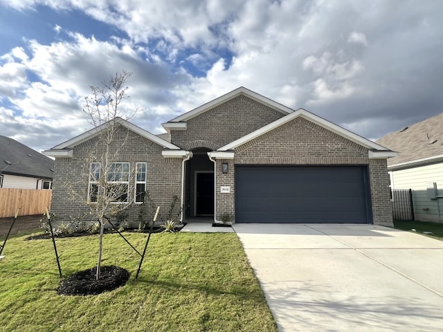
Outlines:
[[[392, 225], [386, 159], [397, 154], [304, 109], [240, 87], [163, 123], [167, 140], [116, 121], [127, 136], [116, 167], [133, 174], [119, 175], [125, 198], [137, 201], [147, 190], [165, 212], [177, 195], [185, 222], [221, 222], [228, 213], [236, 223]], [[52, 207], [59, 219], [87, 211], [87, 200], [96, 199], [88, 174], [99, 165], [87, 156], [107, 125], [44, 151], [55, 157]], [[80, 201], [66, 183], [83, 193]], [[133, 220], [137, 211], [136, 204], [128, 209]]]

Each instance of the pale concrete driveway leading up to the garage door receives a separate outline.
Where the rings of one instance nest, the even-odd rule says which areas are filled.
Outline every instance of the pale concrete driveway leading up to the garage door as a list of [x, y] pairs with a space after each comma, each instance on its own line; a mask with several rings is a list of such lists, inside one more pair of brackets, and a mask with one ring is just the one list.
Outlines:
[[443, 241], [375, 225], [233, 228], [279, 331], [443, 331]]

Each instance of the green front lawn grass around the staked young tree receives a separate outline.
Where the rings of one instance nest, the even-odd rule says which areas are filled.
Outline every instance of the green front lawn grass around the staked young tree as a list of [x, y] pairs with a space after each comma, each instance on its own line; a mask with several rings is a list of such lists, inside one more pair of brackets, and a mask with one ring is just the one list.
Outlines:
[[[125, 233], [138, 250], [146, 234]], [[138, 255], [118, 234], [103, 265], [131, 273], [100, 295], [60, 296], [51, 240], [8, 239], [0, 261], [1, 331], [277, 331], [233, 233], [153, 234], [138, 281]], [[57, 239], [64, 277], [96, 264], [98, 237]]]

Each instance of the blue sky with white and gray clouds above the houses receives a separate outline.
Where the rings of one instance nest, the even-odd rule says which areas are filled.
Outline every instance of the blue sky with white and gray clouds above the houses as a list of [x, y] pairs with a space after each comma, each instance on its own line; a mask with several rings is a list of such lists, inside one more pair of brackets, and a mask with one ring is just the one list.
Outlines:
[[0, 0], [0, 135], [38, 151], [90, 129], [122, 70], [132, 120], [239, 86], [372, 140], [443, 111], [441, 0]]

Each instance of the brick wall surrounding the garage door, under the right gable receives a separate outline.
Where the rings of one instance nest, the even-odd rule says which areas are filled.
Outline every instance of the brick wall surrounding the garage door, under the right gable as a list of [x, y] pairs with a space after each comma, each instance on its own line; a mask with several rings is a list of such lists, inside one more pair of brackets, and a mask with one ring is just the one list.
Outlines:
[[[221, 163], [228, 163], [228, 174], [221, 173]], [[237, 147], [234, 160], [217, 160], [218, 218], [222, 212], [235, 214], [235, 165], [368, 165], [373, 221], [392, 225], [386, 159], [369, 159], [365, 147], [304, 118]], [[223, 185], [230, 193], [220, 192]]]

